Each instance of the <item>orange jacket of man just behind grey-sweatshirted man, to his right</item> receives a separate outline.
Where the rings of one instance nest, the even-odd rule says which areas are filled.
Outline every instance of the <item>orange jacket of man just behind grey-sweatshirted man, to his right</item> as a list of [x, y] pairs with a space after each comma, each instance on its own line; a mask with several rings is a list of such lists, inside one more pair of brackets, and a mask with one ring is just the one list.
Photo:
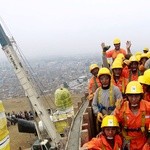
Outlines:
[[125, 88], [126, 88], [127, 83], [128, 83], [127, 79], [125, 77], [123, 77], [123, 76], [121, 76], [117, 82], [114, 80], [113, 76], [112, 76], [111, 79], [112, 79], [111, 80], [112, 84], [114, 84], [115, 86], [118, 86], [118, 88], [120, 89], [121, 93], [124, 94], [125, 93]]

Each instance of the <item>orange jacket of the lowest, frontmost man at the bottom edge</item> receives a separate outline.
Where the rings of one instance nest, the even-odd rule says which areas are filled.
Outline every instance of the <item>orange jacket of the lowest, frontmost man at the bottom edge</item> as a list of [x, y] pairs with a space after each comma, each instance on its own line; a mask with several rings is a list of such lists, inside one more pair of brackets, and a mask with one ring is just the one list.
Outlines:
[[83, 145], [83, 148], [87, 148], [88, 150], [120, 150], [121, 147], [122, 139], [119, 135], [115, 135], [114, 147], [112, 148], [103, 134]]

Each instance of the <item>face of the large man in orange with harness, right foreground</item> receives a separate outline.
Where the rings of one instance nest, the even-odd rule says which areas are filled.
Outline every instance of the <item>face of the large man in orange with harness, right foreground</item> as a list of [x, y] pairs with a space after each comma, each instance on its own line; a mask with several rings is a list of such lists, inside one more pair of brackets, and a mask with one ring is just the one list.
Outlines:
[[128, 94], [127, 97], [131, 107], [139, 106], [141, 100], [141, 94]]

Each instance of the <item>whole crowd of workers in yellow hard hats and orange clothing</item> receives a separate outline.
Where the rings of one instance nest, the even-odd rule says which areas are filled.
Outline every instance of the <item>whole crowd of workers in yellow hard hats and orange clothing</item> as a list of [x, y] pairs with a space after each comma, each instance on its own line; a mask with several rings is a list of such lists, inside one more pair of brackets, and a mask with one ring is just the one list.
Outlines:
[[[103, 65], [90, 65], [89, 104], [97, 136], [81, 149], [150, 150], [150, 52], [131, 54], [113, 41], [114, 49], [101, 44]], [[107, 58], [112, 58], [109, 64]], [[100, 127], [100, 128], [99, 128]]]

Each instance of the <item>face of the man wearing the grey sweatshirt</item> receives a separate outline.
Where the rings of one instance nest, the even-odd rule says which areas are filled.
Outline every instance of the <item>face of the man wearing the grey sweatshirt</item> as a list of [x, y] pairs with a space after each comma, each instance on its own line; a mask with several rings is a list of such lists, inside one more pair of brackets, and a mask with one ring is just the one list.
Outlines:
[[99, 80], [100, 80], [100, 83], [102, 84], [102, 87], [104, 87], [104, 88], [108, 87], [110, 84], [110, 76], [109, 75], [106, 75], [106, 74], [101, 75], [99, 77]]

